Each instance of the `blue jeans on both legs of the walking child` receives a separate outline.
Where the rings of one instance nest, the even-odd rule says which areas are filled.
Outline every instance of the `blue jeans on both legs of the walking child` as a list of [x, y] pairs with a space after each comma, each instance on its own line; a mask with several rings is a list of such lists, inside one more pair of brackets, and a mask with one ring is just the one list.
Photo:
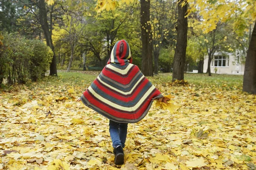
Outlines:
[[112, 120], [109, 120], [109, 133], [112, 140], [113, 148], [121, 145], [125, 147], [125, 140], [127, 135], [127, 123], [118, 123]]

